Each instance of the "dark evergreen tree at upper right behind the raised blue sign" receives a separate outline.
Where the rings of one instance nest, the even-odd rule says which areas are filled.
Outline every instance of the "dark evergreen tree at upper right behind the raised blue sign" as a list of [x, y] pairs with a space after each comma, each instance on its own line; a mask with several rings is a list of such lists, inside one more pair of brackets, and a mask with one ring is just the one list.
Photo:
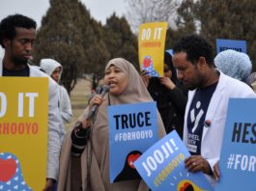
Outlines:
[[192, 9], [201, 22], [201, 34], [214, 47], [216, 39], [247, 41], [247, 53], [256, 69], [255, 10], [256, 4], [253, 0], [200, 0]]

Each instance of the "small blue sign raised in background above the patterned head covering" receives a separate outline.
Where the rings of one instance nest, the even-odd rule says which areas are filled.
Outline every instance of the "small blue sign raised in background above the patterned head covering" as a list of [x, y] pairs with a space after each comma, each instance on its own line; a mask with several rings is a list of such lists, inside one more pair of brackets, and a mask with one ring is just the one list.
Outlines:
[[246, 41], [216, 39], [216, 52], [232, 49], [247, 54]]

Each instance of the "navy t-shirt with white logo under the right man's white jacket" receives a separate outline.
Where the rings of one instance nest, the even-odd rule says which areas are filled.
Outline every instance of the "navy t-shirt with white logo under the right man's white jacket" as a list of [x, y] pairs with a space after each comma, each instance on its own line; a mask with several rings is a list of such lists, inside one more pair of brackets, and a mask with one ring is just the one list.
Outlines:
[[197, 89], [191, 102], [187, 116], [187, 149], [192, 155], [201, 154], [205, 118], [216, 86], [217, 82], [209, 87]]

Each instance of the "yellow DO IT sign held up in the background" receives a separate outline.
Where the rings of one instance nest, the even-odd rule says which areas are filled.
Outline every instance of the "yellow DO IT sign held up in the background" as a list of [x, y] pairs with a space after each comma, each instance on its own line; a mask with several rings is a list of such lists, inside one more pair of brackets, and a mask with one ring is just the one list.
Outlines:
[[144, 23], [139, 27], [139, 63], [148, 75], [163, 76], [166, 28], [167, 22]]

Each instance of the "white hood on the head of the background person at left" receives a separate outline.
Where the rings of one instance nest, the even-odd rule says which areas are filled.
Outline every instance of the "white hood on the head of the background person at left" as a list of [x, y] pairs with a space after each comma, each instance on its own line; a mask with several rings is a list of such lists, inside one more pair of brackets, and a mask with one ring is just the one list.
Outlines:
[[60, 79], [61, 79], [61, 74], [62, 74], [63, 68], [60, 63], [58, 63], [57, 61], [55, 61], [53, 59], [42, 59], [40, 62], [40, 68], [42, 68], [45, 71], [45, 73], [47, 73], [49, 76], [51, 76], [51, 74], [55, 68], [59, 68], [59, 67], [61, 68], [61, 72], [60, 72]]

